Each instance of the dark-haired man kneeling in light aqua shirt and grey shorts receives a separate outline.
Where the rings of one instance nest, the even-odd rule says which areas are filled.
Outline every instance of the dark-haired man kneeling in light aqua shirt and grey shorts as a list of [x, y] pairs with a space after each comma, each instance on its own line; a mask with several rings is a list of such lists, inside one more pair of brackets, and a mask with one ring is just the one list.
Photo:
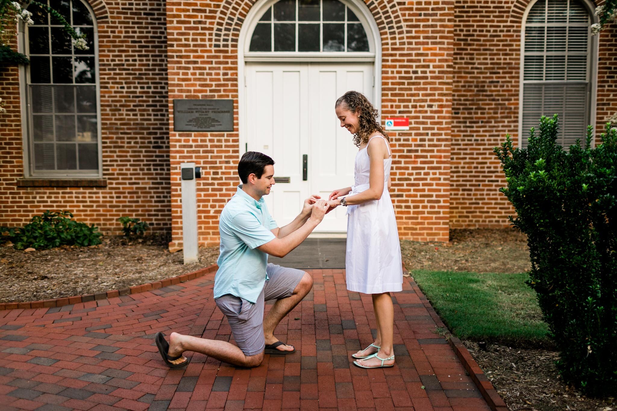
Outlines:
[[[263, 200], [275, 184], [274, 161], [262, 153], [244, 153], [238, 174], [242, 184], [220, 216], [221, 246], [214, 279], [215, 302], [238, 345], [178, 333], [172, 333], [167, 343], [157, 333], [157, 346], [169, 367], [188, 364], [184, 351], [201, 352], [241, 367], [257, 367], [264, 352], [295, 351], [279, 341], [274, 330], [309, 293], [313, 279], [307, 272], [268, 264], [268, 254], [283, 257], [302, 243], [323, 219], [326, 201], [317, 195], [307, 198], [296, 219], [279, 228]], [[270, 299], [276, 302], [264, 318], [264, 301]]]

